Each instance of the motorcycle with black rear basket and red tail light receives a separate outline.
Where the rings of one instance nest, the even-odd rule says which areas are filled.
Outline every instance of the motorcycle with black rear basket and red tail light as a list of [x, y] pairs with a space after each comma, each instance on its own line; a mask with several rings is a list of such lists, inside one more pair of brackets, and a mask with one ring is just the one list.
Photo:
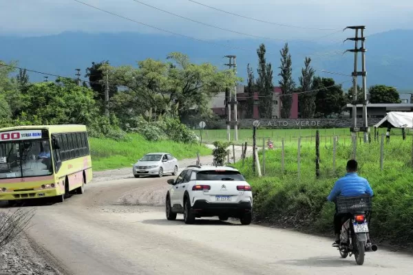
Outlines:
[[347, 214], [341, 226], [339, 252], [343, 259], [352, 256], [357, 265], [363, 265], [365, 252], [377, 251], [369, 237], [369, 221], [372, 201], [369, 195], [359, 197], [337, 197], [337, 212]]

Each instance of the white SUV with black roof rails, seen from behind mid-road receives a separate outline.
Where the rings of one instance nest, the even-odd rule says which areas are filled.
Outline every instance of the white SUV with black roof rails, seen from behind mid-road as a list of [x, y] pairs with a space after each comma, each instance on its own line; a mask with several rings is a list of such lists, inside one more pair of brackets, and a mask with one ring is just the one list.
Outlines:
[[184, 214], [185, 223], [195, 218], [218, 216], [251, 223], [253, 193], [240, 171], [232, 166], [198, 166], [184, 168], [177, 179], [169, 179], [167, 219], [175, 220]]

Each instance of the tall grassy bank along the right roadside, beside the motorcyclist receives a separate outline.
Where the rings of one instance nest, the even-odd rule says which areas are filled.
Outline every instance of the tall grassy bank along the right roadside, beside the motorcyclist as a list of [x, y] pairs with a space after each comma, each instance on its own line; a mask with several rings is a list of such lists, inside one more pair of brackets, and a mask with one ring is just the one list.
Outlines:
[[[378, 243], [413, 243], [413, 168], [411, 137], [403, 142], [392, 138], [384, 148], [384, 168], [380, 169], [380, 144], [358, 144], [359, 175], [366, 177], [374, 191], [372, 239]], [[254, 193], [256, 222], [296, 228], [304, 232], [332, 234], [334, 203], [326, 201], [335, 181], [346, 171], [352, 157], [350, 144], [337, 146], [336, 171], [332, 170], [332, 146], [320, 146], [321, 177], [315, 178], [315, 146], [301, 147], [301, 174], [297, 174], [297, 148], [287, 146], [285, 170], [282, 153], [266, 151], [266, 175], [255, 177], [252, 159], [244, 167], [237, 163]], [[260, 160], [262, 155], [260, 153]]]

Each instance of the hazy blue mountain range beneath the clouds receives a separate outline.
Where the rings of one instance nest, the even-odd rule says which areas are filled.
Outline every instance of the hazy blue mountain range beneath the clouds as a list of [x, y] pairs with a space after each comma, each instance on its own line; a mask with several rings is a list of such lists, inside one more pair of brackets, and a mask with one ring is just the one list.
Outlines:
[[[350, 32], [349, 32], [350, 34]], [[351, 36], [351, 35], [350, 35]], [[63, 32], [50, 36], [0, 36], [0, 60], [17, 61], [19, 67], [40, 72], [74, 77], [75, 69], [82, 70], [92, 62], [109, 61], [112, 65], [134, 65], [145, 58], [165, 60], [170, 52], [187, 54], [193, 63], [210, 62], [224, 69], [225, 55], [237, 56], [237, 74], [246, 82], [246, 65], [257, 67], [257, 47], [266, 45], [266, 61], [273, 64], [274, 84], [278, 85], [280, 41], [231, 39], [229, 41], [193, 41], [177, 36], [159, 34]], [[222, 44], [228, 45], [223, 47]], [[354, 42], [321, 43], [317, 41], [290, 41], [293, 76], [298, 82], [304, 58], [310, 56], [316, 74], [332, 77], [348, 88], [354, 69], [354, 54], [345, 50], [354, 48]], [[373, 34], [366, 39], [367, 85], [389, 85], [399, 91], [413, 92], [410, 77], [413, 64], [413, 30], [392, 30]], [[361, 54], [359, 67], [361, 70]], [[323, 70], [327, 71], [322, 72]], [[43, 80], [41, 74], [30, 74], [32, 81]], [[49, 77], [49, 80], [54, 79]], [[359, 78], [361, 85], [361, 77]]]

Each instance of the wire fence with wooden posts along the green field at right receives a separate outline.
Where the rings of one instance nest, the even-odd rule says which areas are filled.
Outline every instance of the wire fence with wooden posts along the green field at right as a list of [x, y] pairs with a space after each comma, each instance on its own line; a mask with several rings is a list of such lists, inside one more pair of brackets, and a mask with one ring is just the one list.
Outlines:
[[[273, 141], [273, 148], [268, 148], [268, 139]], [[248, 143], [251, 146], [253, 142]], [[348, 159], [357, 159], [361, 170], [369, 173], [376, 170], [380, 173], [386, 169], [413, 170], [413, 135], [406, 136], [384, 133], [372, 136], [370, 142], [363, 142], [363, 135], [339, 136], [319, 135], [318, 153], [317, 138], [310, 135], [289, 140], [289, 137], [257, 137], [256, 148], [259, 149], [255, 171], [252, 159], [242, 159], [246, 173], [260, 176], [296, 174], [302, 179], [303, 173], [319, 175], [342, 175]], [[262, 150], [264, 149], [264, 151]], [[249, 147], [248, 155], [253, 148]], [[251, 152], [250, 152], [251, 151]], [[231, 162], [232, 159], [230, 159]]]

